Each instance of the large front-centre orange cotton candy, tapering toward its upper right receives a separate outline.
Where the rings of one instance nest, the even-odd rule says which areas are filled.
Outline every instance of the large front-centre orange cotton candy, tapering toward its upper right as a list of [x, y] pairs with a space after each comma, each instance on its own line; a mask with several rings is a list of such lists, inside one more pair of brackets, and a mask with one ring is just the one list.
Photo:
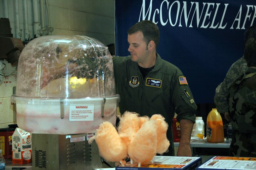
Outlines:
[[155, 120], [145, 122], [128, 146], [128, 155], [138, 163], [151, 161], [157, 148], [157, 125]]

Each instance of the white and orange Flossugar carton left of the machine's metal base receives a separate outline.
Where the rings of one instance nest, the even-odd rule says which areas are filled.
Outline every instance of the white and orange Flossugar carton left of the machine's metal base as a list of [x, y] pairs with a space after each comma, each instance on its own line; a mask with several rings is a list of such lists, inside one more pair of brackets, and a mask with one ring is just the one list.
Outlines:
[[12, 135], [12, 163], [32, 162], [31, 147], [30, 133], [17, 127]]

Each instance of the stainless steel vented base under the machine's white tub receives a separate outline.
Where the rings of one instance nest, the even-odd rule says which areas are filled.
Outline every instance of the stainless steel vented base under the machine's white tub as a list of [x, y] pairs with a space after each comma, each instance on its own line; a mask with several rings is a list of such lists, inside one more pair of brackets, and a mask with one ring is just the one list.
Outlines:
[[[32, 134], [32, 168], [33, 170], [94, 170], [102, 168], [98, 147], [94, 141], [71, 142], [71, 135]], [[71, 138], [70, 138], [71, 137]]]

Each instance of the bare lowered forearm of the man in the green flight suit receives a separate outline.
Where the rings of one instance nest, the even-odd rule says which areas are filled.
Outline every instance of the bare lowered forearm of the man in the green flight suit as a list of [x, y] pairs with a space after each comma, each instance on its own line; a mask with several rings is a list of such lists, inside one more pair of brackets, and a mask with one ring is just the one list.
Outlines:
[[177, 156], [191, 157], [191, 149], [190, 149], [190, 138], [191, 132], [193, 128], [193, 122], [187, 119], [181, 119], [180, 121], [181, 127], [181, 140], [180, 146], [178, 148]]

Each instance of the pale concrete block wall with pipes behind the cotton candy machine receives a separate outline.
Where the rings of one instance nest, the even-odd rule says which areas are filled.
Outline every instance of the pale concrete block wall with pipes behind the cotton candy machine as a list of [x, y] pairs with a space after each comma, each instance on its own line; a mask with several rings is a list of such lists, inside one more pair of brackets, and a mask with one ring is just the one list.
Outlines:
[[[22, 41], [25, 40], [24, 1], [26, 0], [0, 0], [0, 18], [9, 18], [13, 37], [21, 38]], [[18, 11], [15, 10], [15, 2], [18, 3]], [[27, 0], [27, 2], [28, 29], [31, 31], [30, 38], [33, 38], [33, 1]], [[96, 38], [104, 45], [115, 43], [115, 0], [48, 0], [48, 2], [50, 24], [54, 29], [52, 35], [86, 35]], [[40, 1], [38, 5], [40, 7]], [[16, 22], [16, 12], [19, 14], [19, 26]], [[47, 16], [45, 23], [47, 28]], [[17, 36], [17, 27], [23, 30], [21, 37]], [[1, 68], [4, 73], [1, 72]], [[3, 79], [0, 85], [0, 128], [5, 128], [8, 124], [16, 123], [16, 112], [11, 103], [12, 90], [16, 86], [16, 66], [11, 66], [6, 60], [0, 59], [0, 74], [9, 75], [0, 75]]]

